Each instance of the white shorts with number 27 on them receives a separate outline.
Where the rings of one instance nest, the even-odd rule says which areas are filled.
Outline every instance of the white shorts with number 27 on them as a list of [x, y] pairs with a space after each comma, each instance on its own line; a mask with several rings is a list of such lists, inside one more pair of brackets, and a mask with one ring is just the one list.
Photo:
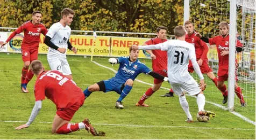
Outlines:
[[47, 54], [47, 60], [52, 71], [59, 71], [63, 75], [71, 75], [71, 70], [67, 58], [60, 58]]

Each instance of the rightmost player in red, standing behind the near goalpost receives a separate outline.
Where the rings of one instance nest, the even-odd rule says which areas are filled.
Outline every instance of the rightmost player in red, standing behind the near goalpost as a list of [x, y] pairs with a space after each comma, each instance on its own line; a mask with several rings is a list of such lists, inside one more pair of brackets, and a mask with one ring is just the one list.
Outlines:
[[[196, 36], [200, 37], [201, 40], [203, 40], [206, 43], [209, 43], [210, 45], [216, 44], [217, 52], [218, 52], [218, 58], [219, 58], [219, 69], [218, 69], [218, 82], [217, 85], [219, 87], [219, 90], [225, 93], [224, 99], [227, 101], [227, 88], [224, 84], [224, 81], [227, 81], [227, 78], [229, 76], [229, 25], [227, 22], [222, 21], [219, 23], [219, 33], [221, 35], [215, 36], [213, 38], [207, 38], [203, 37], [201, 34], [196, 34]], [[237, 40], [236, 43], [236, 51], [241, 52], [243, 51], [243, 44], [239, 40]], [[237, 71], [238, 65], [236, 60], [236, 71]], [[234, 86], [234, 91], [236, 92], [237, 97], [240, 99], [241, 106], [246, 106], [242, 90], [237, 84], [237, 75], [236, 75], [236, 83]]]

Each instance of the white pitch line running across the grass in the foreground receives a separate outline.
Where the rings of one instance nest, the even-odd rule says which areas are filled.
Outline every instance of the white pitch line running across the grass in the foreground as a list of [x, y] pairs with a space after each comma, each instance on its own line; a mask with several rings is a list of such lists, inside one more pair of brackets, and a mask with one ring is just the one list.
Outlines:
[[[26, 121], [0, 121], [0, 122], [22, 122]], [[47, 121], [39, 121], [34, 123], [52, 123]], [[188, 126], [143, 126], [143, 125], [123, 125], [123, 124], [108, 124], [108, 123], [95, 123], [96, 126], [121, 126], [121, 127], [163, 127], [163, 128], [189, 128], [189, 129], [216, 129], [216, 130], [254, 130], [255, 129], [243, 129], [243, 128], [212, 128], [212, 127], [188, 127]]]

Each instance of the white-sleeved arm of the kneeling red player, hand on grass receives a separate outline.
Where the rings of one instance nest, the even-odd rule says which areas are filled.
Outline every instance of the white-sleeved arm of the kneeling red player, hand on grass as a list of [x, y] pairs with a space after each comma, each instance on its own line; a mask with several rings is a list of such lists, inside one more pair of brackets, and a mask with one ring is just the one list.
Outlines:
[[32, 112], [31, 112], [29, 121], [27, 121], [27, 123], [24, 124], [24, 125], [16, 127], [15, 129], [16, 130], [20, 130], [20, 129], [23, 129], [23, 128], [30, 127], [31, 123], [34, 121], [35, 117], [37, 117], [37, 115], [38, 115], [39, 111], [41, 110], [41, 108], [42, 108], [42, 101], [41, 100], [37, 100], [35, 102], [35, 104], [34, 104], [34, 108], [33, 108]]

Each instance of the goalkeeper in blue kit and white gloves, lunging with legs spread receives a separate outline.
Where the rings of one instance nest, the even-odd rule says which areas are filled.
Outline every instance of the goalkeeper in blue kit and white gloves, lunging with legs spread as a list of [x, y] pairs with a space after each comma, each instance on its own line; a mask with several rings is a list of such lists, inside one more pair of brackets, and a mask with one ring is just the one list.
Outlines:
[[117, 99], [116, 108], [123, 109], [122, 100], [132, 90], [133, 81], [140, 73], [151, 75], [155, 79], [168, 81], [168, 77], [164, 77], [158, 73], [152, 72], [145, 64], [141, 63], [137, 58], [139, 56], [139, 50], [132, 50], [130, 47], [130, 56], [110, 58], [111, 64], [120, 64], [118, 72], [115, 77], [109, 80], [103, 80], [90, 85], [86, 90], [83, 91], [84, 96], [87, 98], [94, 91], [115, 91], [120, 97]]

